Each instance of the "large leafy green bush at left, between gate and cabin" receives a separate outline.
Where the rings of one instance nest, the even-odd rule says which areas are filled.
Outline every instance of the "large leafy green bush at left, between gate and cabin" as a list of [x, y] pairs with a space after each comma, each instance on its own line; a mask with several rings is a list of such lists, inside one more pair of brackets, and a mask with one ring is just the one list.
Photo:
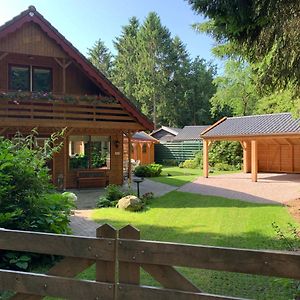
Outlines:
[[[43, 147], [36, 145], [35, 131], [26, 137], [17, 135], [13, 140], [0, 139], [0, 227], [70, 233], [74, 201], [68, 195], [55, 193], [46, 167], [60, 149], [60, 145], [52, 145], [57, 144], [61, 134], [53, 134]], [[28, 259], [24, 253], [9, 253], [1, 253], [0, 264], [6, 268], [27, 268], [31, 258], [37, 256], [30, 255]]]

